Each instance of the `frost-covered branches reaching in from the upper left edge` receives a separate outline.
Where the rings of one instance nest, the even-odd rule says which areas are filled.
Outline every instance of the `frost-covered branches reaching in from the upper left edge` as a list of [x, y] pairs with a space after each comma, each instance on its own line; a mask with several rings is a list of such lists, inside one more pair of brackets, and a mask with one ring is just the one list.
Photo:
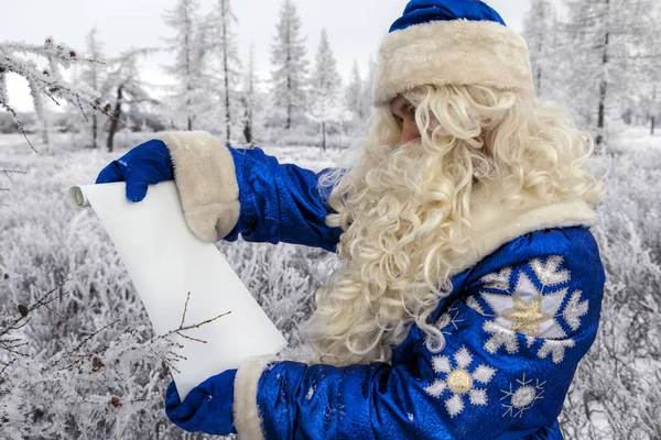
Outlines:
[[13, 42], [0, 43], [0, 108], [12, 116], [19, 132], [25, 136], [31, 146], [24, 124], [9, 100], [7, 74], [17, 74], [28, 81], [32, 102], [41, 122], [42, 139], [47, 144], [48, 125], [44, 98], [57, 106], [62, 102], [71, 103], [85, 116], [89, 110], [105, 114], [110, 110], [108, 106], [101, 105], [97, 91], [83, 84], [74, 85], [63, 77], [62, 70], [72, 67], [78, 61], [78, 54], [73, 48], [55, 43], [52, 37], [46, 38], [42, 46]]

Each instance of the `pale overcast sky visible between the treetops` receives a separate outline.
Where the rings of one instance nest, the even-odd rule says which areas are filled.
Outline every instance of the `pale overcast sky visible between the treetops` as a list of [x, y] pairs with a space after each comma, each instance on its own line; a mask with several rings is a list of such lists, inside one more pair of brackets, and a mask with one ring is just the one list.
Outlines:
[[[201, 0], [207, 9], [214, 0]], [[405, 0], [294, 0], [307, 42], [307, 58], [314, 59], [322, 28], [328, 31], [330, 47], [340, 74], [348, 78], [354, 59], [365, 75], [370, 56], [375, 56], [390, 24], [401, 16]], [[0, 41], [24, 41], [41, 44], [53, 36], [84, 52], [85, 35], [93, 26], [105, 44], [105, 54], [113, 56], [131, 46], [164, 47], [162, 37], [173, 31], [163, 24], [163, 10], [173, 8], [176, 0], [0, 0]], [[275, 34], [280, 10], [279, 0], [234, 0], [239, 20], [236, 29], [240, 56], [247, 59], [254, 44], [257, 68], [269, 78], [270, 45]], [[506, 23], [521, 31], [529, 0], [488, 1]], [[154, 55], [143, 63], [144, 79], [166, 84], [161, 66], [167, 64], [166, 53]], [[18, 110], [31, 109], [26, 86], [18, 78], [8, 78], [10, 99]]]

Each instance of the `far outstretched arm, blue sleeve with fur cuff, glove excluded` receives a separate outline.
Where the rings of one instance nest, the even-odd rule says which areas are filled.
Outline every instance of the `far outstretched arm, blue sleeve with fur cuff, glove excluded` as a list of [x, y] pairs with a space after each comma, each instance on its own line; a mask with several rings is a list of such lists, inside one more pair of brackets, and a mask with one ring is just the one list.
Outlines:
[[280, 164], [261, 148], [234, 148], [205, 132], [160, 133], [167, 146], [188, 227], [206, 241], [279, 242], [334, 252], [340, 228], [326, 224], [333, 212], [322, 175]]

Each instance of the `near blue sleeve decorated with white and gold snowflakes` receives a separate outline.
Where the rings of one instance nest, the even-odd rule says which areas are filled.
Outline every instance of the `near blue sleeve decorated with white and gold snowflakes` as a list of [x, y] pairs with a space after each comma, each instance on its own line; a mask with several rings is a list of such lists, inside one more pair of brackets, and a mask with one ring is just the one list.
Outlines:
[[398, 364], [269, 364], [264, 437], [562, 439], [556, 418], [595, 339], [605, 274], [594, 239], [555, 248], [478, 264], [442, 306], [443, 346], [413, 327], [419, 341]]

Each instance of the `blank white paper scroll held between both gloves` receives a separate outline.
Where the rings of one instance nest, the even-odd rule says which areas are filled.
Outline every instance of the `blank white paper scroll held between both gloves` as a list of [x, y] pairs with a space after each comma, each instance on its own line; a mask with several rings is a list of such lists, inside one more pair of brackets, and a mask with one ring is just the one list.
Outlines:
[[144, 200], [130, 202], [126, 184], [72, 187], [69, 202], [91, 206], [115, 243], [147, 308], [156, 334], [180, 328], [187, 293], [188, 324], [226, 315], [177, 338], [186, 358], [171, 369], [180, 397], [208, 377], [236, 369], [248, 356], [275, 354], [286, 341], [218, 249], [188, 229], [173, 182], [149, 187]]

